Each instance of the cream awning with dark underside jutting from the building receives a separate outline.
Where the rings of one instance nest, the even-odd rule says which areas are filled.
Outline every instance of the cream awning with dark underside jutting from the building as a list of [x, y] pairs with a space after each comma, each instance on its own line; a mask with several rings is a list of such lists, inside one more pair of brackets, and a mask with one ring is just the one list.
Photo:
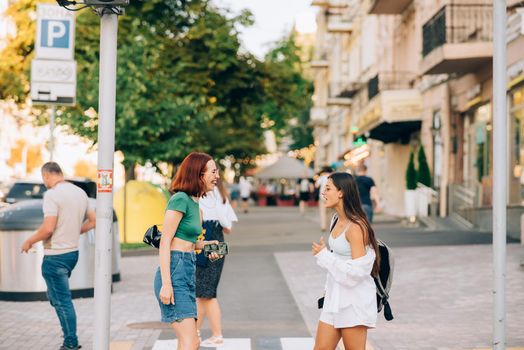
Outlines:
[[389, 90], [376, 96], [357, 120], [358, 133], [384, 143], [409, 142], [420, 130], [422, 97], [417, 90]]

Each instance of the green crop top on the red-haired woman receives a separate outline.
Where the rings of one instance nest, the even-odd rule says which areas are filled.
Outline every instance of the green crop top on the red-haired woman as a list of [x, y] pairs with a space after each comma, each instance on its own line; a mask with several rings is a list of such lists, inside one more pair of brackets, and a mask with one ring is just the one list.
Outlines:
[[177, 192], [169, 199], [166, 210], [179, 211], [184, 214], [178, 224], [175, 237], [195, 243], [202, 232], [198, 203], [185, 192]]

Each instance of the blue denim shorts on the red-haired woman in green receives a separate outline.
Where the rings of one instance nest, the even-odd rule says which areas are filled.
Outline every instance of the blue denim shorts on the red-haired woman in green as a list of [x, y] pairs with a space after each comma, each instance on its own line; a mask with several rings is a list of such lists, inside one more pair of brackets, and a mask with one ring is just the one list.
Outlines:
[[195, 299], [195, 253], [171, 251], [171, 284], [175, 294], [175, 304], [163, 304], [160, 301], [162, 278], [160, 268], [155, 275], [155, 296], [160, 306], [161, 322], [181, 322], [185, 318], [197, 318]]

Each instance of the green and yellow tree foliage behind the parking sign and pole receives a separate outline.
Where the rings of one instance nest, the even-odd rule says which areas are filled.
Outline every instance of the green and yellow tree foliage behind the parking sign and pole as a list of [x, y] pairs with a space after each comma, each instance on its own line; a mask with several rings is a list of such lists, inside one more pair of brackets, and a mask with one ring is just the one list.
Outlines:
[[[34, 58], [36, 0], [13, 2], [7, 15], [17, 35], [2, 51], [0, 99], [22, 104]], [[99, 22], [91, 11], [77, 16], [77, 105], [57, 113], [57, 123], [94, 143]], [[115, 148], [126, 166], [178, 163], [193, 150], [239, 162], [265, 152], [266, 128], [283, 135], [291, 119], [307, 125], [312, 87], [301, 77], [292, 37], [261, 62], [240, 50], [238, 30], [252, 23], [249, 12], [231, 16], [208, 0], [130, 3], [119, 18], [115, 121]]]

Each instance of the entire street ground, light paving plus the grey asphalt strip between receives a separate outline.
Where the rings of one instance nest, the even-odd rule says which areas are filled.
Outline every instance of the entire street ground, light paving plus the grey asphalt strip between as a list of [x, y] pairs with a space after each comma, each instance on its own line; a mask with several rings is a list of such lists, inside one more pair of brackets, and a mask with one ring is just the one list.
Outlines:
[[[239, 214], [235, 233], [228, 237], [231, 254], [219, 287], [227, 338], [250, 338], [253, 350], [310, 349], [285, 348], [284, 343], [303, 339], [310, 344], [315, 333], [316, 299], [325, 280], [309, 252], [320, 236], [316, 214], [311, 209], [302, 217], [296, 208], [253, 208]], [[386, 323], [379, 315], [377, 329], [369, 333], [374, 350], [489, 348], [492, 247], [464, 244], [486, 243], [490, 236], [410, 230], [395, 220], [375, 227], [393, 247], [396, 267], [395, 320]], [[524, 347], [524, 271], [519, 266], [524, 247], [509, 244], [507, 251], [507, 343], [518, 349]], [[169, 326], [158, 322], [152, 290], [156, 266], [157, 255], [122, 258], [122, 281], [113, 285], [111, 297], [112, 350], [151, 350], [157, 340], [174, 338]], [[80, 342], [91, 349], [94, 300], [74, 303]], [[61, 344], [48, 302], [0, 301], [0, 315], [2, 350], [55, 350]]]

